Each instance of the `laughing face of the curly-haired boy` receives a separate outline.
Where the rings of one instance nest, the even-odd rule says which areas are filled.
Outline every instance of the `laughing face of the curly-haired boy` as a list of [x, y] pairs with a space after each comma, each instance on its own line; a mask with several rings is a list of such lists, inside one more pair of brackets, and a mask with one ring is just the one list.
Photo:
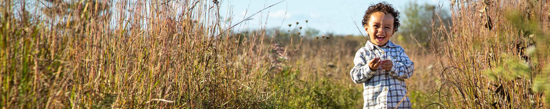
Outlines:
[[375, 12], [365, 25], [365, 31], [371, 37], [371, 42], [377, 46], [384, 46], [393, 35], [393, 15]]

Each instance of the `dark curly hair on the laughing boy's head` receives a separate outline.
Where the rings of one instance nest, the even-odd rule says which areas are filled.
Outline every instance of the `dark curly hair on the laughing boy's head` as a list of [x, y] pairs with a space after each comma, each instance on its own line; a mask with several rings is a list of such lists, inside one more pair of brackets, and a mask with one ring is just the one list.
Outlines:
[[378, 4], [371, 4], [371, 6], [368, 7], [368, 9], [365, 11], [365, 16], [363, 16], [363, 27], [365, 27], [366, 24], [368, 24], [368, 20], [371, 18], [371, 14], [375, 12], [382, 12], [384, 14], [392, 14], [393, 15], [393, 32], [397, 32], [397, 28], [399, 28], [399, 12], [392, 6], [392, 4], [389, 4], [387, 2], [380, 2]]

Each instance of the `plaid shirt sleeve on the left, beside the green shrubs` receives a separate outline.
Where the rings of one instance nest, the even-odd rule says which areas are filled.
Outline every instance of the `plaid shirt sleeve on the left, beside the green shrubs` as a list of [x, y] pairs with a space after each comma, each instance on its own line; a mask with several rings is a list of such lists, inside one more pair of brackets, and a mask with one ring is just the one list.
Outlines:
[[365, 83], [365, 81], [375, 74], [375, 71], [372, 71], [367, 65], [368, 55], [370, 53], [365, 48], [361, 48], [355, 53], [355, 58], [353, 59], [354, 67], [351, 69], [350, 75], [356, 84]]

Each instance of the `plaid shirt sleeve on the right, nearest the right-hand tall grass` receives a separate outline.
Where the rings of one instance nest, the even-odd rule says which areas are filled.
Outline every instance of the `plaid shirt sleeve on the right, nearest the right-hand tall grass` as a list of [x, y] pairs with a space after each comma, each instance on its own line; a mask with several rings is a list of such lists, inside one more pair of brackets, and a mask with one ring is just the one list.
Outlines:
[[399, 57], [401, 60], [393, 62], [389, 75], [399, 79], [409, 79], [414, 72], [414, 63], [412, 63], [402, 47], [399, 47]]

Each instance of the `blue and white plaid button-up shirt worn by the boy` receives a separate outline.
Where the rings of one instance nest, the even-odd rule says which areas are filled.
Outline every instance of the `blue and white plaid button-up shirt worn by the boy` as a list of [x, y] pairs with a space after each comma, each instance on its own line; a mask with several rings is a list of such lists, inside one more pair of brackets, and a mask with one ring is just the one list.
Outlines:
[[[375, 57], [392, 60], [392, 69], [371, 70], [367, 63]], [[414, 63], [401, 46], [388, 41], [385, 46], [379, 47], [367, 41], [365, 47], [355, 54], [353, 63], [351, 79], [354, 83], [363, 84], [363, 108], [411, 108], [404, 79], [411, 77]]]

